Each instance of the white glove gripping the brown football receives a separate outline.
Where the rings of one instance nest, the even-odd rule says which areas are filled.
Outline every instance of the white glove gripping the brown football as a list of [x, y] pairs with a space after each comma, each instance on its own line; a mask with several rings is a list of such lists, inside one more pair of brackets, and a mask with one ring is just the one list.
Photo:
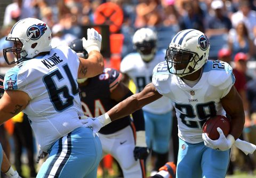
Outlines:
[[228, 135], [227, 137], [223, 134], [220, 127], [217, 128], [217, 131], [220, 134], [220, 137], [218, 140], [211, 140], [206, 133], [202, 134], [204, 145], [206, 147], [210, 147], [212, 149], [217, 149], [221, 151], [226, 151], [231, 148], [233, 143], [235, 142], [233, 135]]

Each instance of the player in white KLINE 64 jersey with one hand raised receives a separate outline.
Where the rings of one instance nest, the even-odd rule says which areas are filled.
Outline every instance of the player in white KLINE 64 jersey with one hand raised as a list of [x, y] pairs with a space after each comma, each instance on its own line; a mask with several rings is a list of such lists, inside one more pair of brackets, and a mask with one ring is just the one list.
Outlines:
[[[4, 48], [8, 64], [0, 124], [23, 110], [28, 115], [39, 147], [49, 153], [38, 177], [97, 177], [102, 155], [99, 137], [83, 126], [77, 77], [101, 74], [101, 35], [87, 29], [83, 47], [88, 59], [78, 58], [68, 46], [51, 47], [51, 29], [41, 20], [26, 18], [15, 23]], [[13, 53], [14, 59], [7, 53]]]

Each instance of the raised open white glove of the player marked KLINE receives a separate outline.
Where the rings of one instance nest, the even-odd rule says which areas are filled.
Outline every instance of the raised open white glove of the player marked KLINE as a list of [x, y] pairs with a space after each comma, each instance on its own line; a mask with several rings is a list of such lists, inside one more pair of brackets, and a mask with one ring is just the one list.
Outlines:
[[87, 40], [85, 37], [83, 37], [82, 40], [83, 47], [88, 52], [88, 54], [90, 54], [91, 51], [100, 52], [102, 37], [98, 31], [94, 30], [93, 28], [87, 29]]

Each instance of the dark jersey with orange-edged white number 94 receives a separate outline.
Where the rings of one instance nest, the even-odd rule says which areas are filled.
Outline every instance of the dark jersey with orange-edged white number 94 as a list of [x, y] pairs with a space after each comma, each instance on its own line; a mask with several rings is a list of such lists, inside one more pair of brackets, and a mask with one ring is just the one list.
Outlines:
[[[119, 84], [121, 78], [122, 75], [117, 70], [106, 68], [102, 74], [87, 79], [89, 84], [79, 84], [85, 116], [98, 117], [118, 104], [110, 98], [110, 92]], [[130, 116], [115, 120], [102, 127], [99, 133], [115, 133], [130, 125], [130, 121]]]

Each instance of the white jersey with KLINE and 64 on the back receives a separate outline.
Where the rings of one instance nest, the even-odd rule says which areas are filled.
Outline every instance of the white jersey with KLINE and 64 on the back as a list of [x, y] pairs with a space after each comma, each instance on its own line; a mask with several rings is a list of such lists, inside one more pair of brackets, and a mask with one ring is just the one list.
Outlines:
[[76, 53], [61, 46], [6, 72], [5, 90], [26, 92], [31, 99], [23, 112], [28, 115], [43, 151], [82, 125], [78, 121], [78, 115], [83, 115], [76, 82], [78, 67]]

